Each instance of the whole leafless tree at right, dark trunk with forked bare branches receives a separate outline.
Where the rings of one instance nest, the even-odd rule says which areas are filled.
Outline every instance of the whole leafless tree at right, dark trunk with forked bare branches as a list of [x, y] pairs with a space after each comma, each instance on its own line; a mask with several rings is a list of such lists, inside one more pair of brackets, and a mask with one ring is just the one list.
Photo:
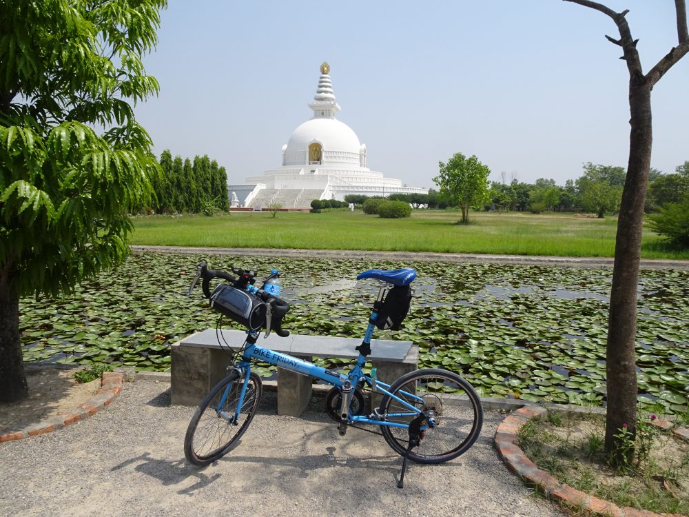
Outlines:
[[606, 38], [611, 43], [619, 45], [623, 52], [620, 59], [625, 61], [629, 72], [629, 161], [617, 222], [606, 352], [608, 412], [605, 447], [613, 462], [621, 465], [632, 460], [634, 451], [624, 447], [623, 440], [619, 438], [620, 430], [626, 427], [627, 436], [636, 436], [637, 283], [652, 143], [651, 91], [672, 65], [689, 52], [686, 2], [675, 0], [677, 46], [670, 49], [668, 54], [644, 74], [637, 50], [639, 40], [632, 37], [625, 18], [628, 10], [615, 12], [601, 3], [589, 0], [565, 1], [597, 10], [613, 20], [619, 32], [619, 39], [607, 35]]

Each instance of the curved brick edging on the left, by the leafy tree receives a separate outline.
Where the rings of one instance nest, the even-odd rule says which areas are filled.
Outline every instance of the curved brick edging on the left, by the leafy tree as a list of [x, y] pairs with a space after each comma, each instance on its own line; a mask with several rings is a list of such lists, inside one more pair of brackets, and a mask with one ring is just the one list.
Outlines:
[[21, 431], [0, 434], [0, 442], [21, 440], [29, 436], [39, 436], [39, 434], [49, 433], [55, 429], [62, 429], [72, 425], [99, 412], [103, 407], [109, 405], [121, 392], [122, 374], [104, 372], [101, 378], [101, 389], [89, 401], [79, 405], [72, 412], [46, 418], [39, 423], [21, 429]]

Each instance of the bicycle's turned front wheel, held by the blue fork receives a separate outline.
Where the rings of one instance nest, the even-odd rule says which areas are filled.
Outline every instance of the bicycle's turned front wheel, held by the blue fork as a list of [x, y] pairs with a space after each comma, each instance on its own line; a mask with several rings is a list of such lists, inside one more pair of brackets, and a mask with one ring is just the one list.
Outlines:
[[249, 427], [263, 385], [260, 377], [251, 372], [244, 401], [237, 412], [244, 378], [234, 370], [196, 408], [184, 438], [184, 455], [189, 462], [194, 465], [213, 463], [232, 450]]

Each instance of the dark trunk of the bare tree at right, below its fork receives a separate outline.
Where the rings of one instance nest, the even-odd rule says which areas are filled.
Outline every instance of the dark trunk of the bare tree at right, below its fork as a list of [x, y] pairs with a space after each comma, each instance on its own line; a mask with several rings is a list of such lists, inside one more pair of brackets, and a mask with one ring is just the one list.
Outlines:
[[619, 429], [626, 426], [630, 438], [634, 439], [636, 436], [637, 284], [652, 143], [650, 85], [644, 77], [631, 77], [629, 106], [629, 163], [617, 221], [606, 356], [609, 410], [606, 416], [605, 447], [618, 465], [630, 462], [634, 451], [632, 449], [625, 454], [614, 435], [619, 434]]

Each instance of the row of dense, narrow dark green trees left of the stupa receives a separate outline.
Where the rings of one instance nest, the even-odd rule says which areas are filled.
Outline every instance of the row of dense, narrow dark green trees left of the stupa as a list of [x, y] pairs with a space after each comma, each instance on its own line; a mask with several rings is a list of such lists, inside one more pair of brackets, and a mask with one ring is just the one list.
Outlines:
[[150, 207], [156, 214], [212, 214], [229, 209], [227, 172], [217, 161], [207, 155], [194, 156], [194, 161], [181, 156], [172, 159], [165, 150], [159, 163], [162, 172], [152, 181], [155, 196]]

